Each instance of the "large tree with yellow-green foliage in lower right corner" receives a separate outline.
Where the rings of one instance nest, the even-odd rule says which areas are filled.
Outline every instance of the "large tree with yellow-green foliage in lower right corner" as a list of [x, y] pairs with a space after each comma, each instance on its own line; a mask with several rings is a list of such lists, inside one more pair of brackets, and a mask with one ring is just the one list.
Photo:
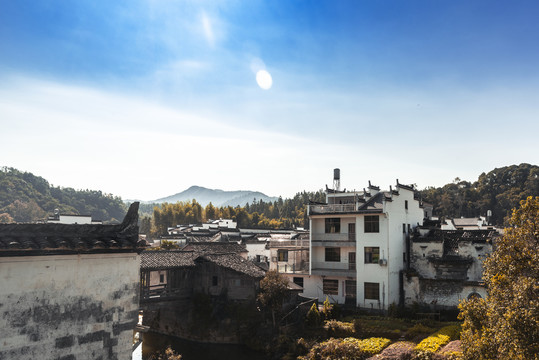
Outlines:
[[488, 297], [460, 305], [466, 359], [539, 359], [539, 197], [520, 204], [485, 260]]

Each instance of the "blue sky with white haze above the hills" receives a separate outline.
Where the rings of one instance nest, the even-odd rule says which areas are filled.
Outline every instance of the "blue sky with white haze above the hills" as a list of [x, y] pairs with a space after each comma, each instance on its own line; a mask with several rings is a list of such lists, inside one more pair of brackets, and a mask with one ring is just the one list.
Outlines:
[[0, 0], [1, 165], [151, 200], [537, 164], [538, 18], [535, 1]]

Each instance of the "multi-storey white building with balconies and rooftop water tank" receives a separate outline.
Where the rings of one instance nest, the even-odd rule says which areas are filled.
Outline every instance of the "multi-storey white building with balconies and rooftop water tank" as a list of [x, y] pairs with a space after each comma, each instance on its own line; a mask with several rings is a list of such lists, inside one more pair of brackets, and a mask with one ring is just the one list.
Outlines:
[[402, 302], [406, 237], [432, 211], [413, 186], [398, 180], [389, 191], [370, 182], [359, 192], [337, 186], [328, 189], [326, 204], [309, 205], [308, 211], [311, 258], [304, 296], [383, 310]]

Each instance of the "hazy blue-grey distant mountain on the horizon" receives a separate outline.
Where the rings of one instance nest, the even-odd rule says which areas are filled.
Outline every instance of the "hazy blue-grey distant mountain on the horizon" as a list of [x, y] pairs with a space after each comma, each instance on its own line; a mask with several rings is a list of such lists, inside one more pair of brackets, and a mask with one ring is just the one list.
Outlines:
[[200, 205], [206, 206], [210, 202], [215, 206], [245, 206], [245, 204], [251, 204], [253, 200], [257, 202], [263, 200], [264, 202], [273, 202], [278, 200], [277, 197], [267, 196], [259, 191], [249, 190], [237, 190], [237, 191], [223, 191], [218, 189], [207, 189], [202, 186], [191, 186], [189, 189], [184, 190], [175, 195], [167, 196], [161, 199], [150, 201], [151, 203], [175, 203], [178, 201], [191, 201], [195, 199]]

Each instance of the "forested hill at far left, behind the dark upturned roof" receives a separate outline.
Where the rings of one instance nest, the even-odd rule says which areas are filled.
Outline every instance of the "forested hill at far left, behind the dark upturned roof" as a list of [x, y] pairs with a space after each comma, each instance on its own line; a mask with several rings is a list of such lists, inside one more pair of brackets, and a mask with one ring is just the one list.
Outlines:
[[121, 198], [111, 194], [53, 187], [31, 173], [0, 168], [0, 223], [43, 220], [54, 209], [104, 222], [122, 221], [127, 211]]

